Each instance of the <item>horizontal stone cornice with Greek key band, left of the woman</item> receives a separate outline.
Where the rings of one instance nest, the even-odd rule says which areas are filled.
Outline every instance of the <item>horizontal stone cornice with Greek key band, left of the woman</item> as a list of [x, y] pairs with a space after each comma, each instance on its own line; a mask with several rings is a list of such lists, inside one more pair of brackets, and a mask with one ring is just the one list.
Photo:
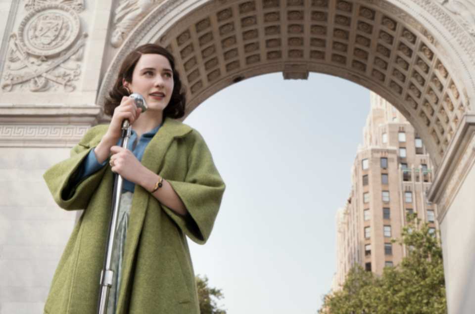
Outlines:
[[2, 105], [0, 147], [72, 147], [101, 113], [99, 106]]

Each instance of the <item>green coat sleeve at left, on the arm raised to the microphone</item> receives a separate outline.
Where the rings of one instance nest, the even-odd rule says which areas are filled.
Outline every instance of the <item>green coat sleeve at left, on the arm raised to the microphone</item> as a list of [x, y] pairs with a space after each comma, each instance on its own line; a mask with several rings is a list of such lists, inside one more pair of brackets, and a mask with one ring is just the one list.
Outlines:
[[90, 129], [71, 150], [71, 157], [49, 168], [43, 175], [54, 201], [65, 210], [86, 209], [107, 167], [73, 183], [83, 161], [100, 141], [103, 126]]

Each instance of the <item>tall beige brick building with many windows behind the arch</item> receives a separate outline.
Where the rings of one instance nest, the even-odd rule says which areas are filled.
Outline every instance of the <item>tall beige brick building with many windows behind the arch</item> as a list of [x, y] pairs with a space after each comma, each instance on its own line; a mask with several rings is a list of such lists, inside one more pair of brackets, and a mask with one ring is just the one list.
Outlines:
[[336, 214], [337, 270], [332, 290], [339, 289], [356, 263], [382, 274], [396, 265], [407, 248], [391, 238], [400, 237], [406, 213], [438, 228], [436, 205], [427, 202], [433, 166], [422, 140], [389, 102], [371, 93], [371, 111], [351, 168], [352, 188], [344, 208]]

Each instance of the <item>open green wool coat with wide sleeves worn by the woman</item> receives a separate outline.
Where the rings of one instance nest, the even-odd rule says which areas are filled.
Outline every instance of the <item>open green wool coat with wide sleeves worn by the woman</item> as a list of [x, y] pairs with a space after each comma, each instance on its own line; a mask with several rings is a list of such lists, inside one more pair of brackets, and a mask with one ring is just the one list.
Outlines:
[[[84, 209], [54, 274], [45, 313], [95, 314], [112, 199], [109, 164], [75, 186], [82, 161], [108, 126], [91, 128], [71, 158], [44, 175], [56, 203]], [[160, 204], [136, 185], [122, 264], [117, 314], [199, 314], [186, 236], [208, 239], [225, 189], [202, 137], [189, 126], [165, 119], [145, 149], [142, 164], [166, 179], [192, 220]]]

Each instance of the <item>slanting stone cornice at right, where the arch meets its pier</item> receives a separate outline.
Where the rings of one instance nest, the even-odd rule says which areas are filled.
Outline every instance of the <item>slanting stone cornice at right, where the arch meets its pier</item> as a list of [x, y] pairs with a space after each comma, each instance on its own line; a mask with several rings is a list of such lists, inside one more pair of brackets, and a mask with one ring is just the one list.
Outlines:
[[460, 183], [464, 181], [467, 170], [475, 159], [475, 150], [471, 148], [475, 144], [474, 135], [475, 114], [464, 114], [461, 126], [447, 147], [428, 193], [428, 199], [439, 205], [439, 223], [442, 223]]

